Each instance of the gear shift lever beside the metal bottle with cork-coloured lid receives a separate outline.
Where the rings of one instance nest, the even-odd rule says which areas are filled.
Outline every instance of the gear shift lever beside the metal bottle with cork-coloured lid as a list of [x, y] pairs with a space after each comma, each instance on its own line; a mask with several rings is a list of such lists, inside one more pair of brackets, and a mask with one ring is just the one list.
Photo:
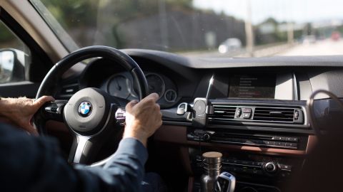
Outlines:
[[223, 172], [217, 178], [216, 192], [234, 192], [236, 186], [236, 178], [228, 172]]

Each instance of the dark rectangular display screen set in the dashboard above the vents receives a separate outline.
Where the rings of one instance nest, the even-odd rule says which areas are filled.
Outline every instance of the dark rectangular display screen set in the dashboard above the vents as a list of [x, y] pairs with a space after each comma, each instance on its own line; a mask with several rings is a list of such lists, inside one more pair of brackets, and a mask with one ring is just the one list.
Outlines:
[[229, 97], [274, 99], [275, 83], [273, 75], [234, 75], [230, 78]]

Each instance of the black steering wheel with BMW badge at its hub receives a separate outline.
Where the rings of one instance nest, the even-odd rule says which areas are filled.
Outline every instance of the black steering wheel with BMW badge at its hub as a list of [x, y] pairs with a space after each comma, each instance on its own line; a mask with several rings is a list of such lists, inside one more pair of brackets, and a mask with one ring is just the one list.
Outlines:
[[[90, 46], [66, 55], [41, 82], [36, 99], [43, 95], [55, 95], [61, 76], [76, 63], [89, 58], [106, 58], [121, 65], [131, 73], [137, 85], [139, 100], [146, 97], [148, 84], [139, 65], [126, 53], [106, 46]], [[35, 114], [34, 124], [40, 134], [46, 134], [46, 121], [64, 122], [73, 134], [69, 162], [89, 164], [104, 141], [113, 133], [120, 132], [125, 122], [125, 106], [122, 99], [94, 87], [76, 92], [69, 100], [47, 103]]]

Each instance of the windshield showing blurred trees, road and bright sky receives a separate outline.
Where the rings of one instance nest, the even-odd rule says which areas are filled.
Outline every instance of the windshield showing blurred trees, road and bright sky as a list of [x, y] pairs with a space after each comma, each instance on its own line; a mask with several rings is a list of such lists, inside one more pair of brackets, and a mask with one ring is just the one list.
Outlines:
[[343, 55], [341, 0], [31, 0], [70, 51], [196, 57]]

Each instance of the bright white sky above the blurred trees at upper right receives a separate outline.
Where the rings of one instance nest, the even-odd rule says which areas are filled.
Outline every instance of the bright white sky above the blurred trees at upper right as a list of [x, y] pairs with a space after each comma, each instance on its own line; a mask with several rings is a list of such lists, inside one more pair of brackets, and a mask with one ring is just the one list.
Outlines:
[[193, 5], [246, 19], [248, 1], [254, 24], [269, 17], [297, 23], [343, 19], [343, 0], [193, 0]]

